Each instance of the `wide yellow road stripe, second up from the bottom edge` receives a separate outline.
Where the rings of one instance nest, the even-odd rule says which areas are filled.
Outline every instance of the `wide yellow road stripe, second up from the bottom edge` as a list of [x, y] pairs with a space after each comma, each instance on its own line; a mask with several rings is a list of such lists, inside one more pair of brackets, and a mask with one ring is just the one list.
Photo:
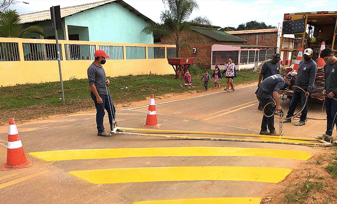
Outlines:
[[95, 184], [188, 181], [235, 180], [278, 183], [292, 169], [236, 166], [146, 167], [70, 171], [71, 175]]

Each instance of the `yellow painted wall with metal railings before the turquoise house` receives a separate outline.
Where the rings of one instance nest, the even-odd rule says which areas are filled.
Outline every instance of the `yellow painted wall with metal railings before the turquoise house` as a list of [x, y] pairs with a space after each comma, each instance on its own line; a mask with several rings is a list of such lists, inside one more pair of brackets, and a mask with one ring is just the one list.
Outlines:
[[[49, 81], [60, 81], [59, 68], [57, 61], [24, 61], [22, 43], [53, 43], [55, 40], [41, 39], [20, 39], [20, 38], [0, 38], [0, 42], [19, 43], [19, 53], [21, 61], [0, 62], [0, 85], [12, 86], [23, 83], [40, 83]], [[59, 40], [62, 48], [61, 68], [63, 80], [70, 77], [78, 79], [87, 78], [87, 69], [93, 60], [65, 60], [64, 44], [85, 44], [85, 45], [115, 45], [124, 46], [145, 46], [146, 58], [148, 47], [175, 47], [175, 45], [156, 45], [156, 44], [134, 44], [134, 43], [107, 43], [91, 41], [66, 41]], [[166, 56], [166, 48], [165, 48]], [[106, 76], [116, 77], [129, 74], [173, 74], [174, 70], [167, 63], [167, 59], [119, 59], [106, 60], [103, 65]]]

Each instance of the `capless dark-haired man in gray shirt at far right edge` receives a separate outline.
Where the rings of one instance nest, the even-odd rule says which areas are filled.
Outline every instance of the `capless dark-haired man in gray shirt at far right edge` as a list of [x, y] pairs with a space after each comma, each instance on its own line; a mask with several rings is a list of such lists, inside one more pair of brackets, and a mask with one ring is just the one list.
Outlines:
[[[337, 125], [337, 57], [334, 56], [331, 49], [326, 48], [319, 54], [324, 59], [326, 65], [324, 65], [324, 90], [325, 107], [327, 112], [327, 131], [326, 135], [331, 136], [334, 126]], [[316, 139], [322, 139], [322, 136], [315, 137]], [[337, 144], [337, 141], [333, 142]]]

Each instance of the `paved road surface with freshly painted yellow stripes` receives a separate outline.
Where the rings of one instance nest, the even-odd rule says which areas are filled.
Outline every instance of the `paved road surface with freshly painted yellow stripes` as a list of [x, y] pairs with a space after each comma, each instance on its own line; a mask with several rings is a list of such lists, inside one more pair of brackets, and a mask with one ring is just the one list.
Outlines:
[[[237, 88], [157, 105], [160, 129], [258, 134], [262, 112], [257, 110], [255, 89]], [[285, 112], [288, 105], [289, 100], [282, 102]], [[324, 118], [322, 105], [311, 101], [308, 116]], [[147, 107], [129, 108], [135, 109], [117, 110], [119, 126], [140, 128]], [[302, 127], [294, 126], [295, 122], [283, 125], [285, 136], [314, 137], [325, 132], [325, 121], [309, 120]], [[107, 116], [104, 123], [109, 129]], [[1, 161], [6, 161], [7, 128], [0, 127]], [[132, 135], [99, 137], [93, 112], [20, 124], [18, 130], [33, 166], [0, 172], [2, 203], [259, 203], [267, 188], [320, 149]]]

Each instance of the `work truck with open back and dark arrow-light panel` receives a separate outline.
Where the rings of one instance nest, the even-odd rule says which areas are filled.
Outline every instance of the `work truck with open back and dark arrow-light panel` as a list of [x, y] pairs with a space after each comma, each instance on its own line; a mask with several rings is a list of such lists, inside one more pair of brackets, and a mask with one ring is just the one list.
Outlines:
[[[294, 34], [296, 38], [301, 39], [301, 46], [294, 48], [282, 48], [283, 37], [286, 34]], [[337, 11], [315, 11], [303, 13], [285, 13], [283, 16], [282, 34], [280, 39], [279, 54], [291, 53], [297, 56], [302, 48], [311, 48], [313, 50], [312, 59], [317, 62], [322, 42], [325, 48], [331, 48], [337, 52]], [[296, 71], [288, 69], [285, 73], [296, 78]], [[325, 96], [321, 91], [324, 87], [324, 70], [323, 66], [318, 67], [314, 89], [311, 98], [324, 100]], [[283, 94], [287, 98], [292, 95], [291, 91], [285, 91]]]

